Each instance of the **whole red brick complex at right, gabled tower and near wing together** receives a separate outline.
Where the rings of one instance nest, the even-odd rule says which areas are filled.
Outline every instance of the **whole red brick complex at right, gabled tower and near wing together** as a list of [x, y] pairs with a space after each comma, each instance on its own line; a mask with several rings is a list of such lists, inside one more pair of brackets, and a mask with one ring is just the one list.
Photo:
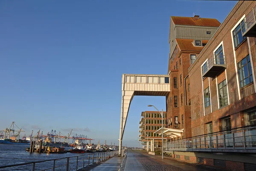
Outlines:
[[[197, 23], [200, 19], [171, 17], [166, 119], [168, 128], [184, 129], [184, 135], [166, 143], [165, 151], [178, 159], [251, 171], [256, 168], [256, 1], [239, 1], [220, 26], [214, 19]], [[177, 38], [171, 32], [181, 23], [190, 34], [192, 23], [217, 29], [200, 32], [209, 39]]]

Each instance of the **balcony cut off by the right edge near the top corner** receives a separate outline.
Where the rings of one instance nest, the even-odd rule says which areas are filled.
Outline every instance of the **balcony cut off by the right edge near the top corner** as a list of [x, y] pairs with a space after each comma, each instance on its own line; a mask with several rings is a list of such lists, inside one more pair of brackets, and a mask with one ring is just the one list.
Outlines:
[[244, 18], [245, 29], [242, 29], [242, 35], [244, 37], [256, 37], [256, 17], [255, 16], [256, 16], [256, 6]]

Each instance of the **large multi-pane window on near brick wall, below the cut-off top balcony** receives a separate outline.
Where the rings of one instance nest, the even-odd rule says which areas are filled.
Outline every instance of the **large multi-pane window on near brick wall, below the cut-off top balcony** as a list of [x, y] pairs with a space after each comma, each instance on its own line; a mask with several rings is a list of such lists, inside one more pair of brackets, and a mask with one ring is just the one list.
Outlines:
[[249, 55], [247, 55], [238, 63], [238, 73], [239, 73], [240, 87], [244, 87], [245, 85], [253, 82], [252, 67], [250, 64]]

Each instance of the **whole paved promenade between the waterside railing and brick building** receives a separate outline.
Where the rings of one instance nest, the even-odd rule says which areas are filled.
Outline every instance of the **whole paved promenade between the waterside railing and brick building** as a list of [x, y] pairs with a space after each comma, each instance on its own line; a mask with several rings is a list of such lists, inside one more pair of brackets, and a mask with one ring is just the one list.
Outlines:
[[[196, 167], [173, 159], [161, 159], [146, 152], [128, 151], [126, 157], [112, 157], [90, 171], [221, 171], [214, 167]], [[122, 165], [121, 165], [122, 163]], [[121, 167], [120, 167], [121, 166]]]

